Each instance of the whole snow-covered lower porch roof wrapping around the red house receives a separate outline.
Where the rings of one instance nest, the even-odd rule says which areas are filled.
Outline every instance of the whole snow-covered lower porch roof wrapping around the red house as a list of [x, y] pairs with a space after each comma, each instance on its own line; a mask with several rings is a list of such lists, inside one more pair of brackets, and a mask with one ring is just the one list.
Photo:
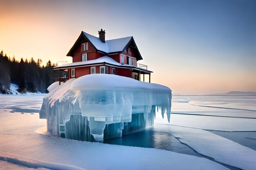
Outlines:
[[146, 70], [144, 68], [139, 68], [138, 66], [133, 66], [133, 65], [128, 65], [128, 64], [121, 64], [117, 61], [115, 61], [114, 59], [112, 59], [111, 57], [108, 57], [107, 55], [100, 57], [98, 59], [95, 60], [88, 60], [88, 61], [83, 61], [83, 62], [73, 62], [73, 63], [69, 63], [69, 64], [63, 64], [61, 66], [55, 66], [54, 69], [58, 69], [58, 68], [74, 68], [74, 67], [78, 67], [78, 66], [88, 66], [88, 65], [97, 65], [97, 64], [110, 64], [112, 66], [118, 66], [118, 67], [122, 67], [122, 68], [133, 68], [136, 70], [140, 70], [140, 71], [145, 71], [148, 73], [153, 73], [153, 71], [149, 71]]

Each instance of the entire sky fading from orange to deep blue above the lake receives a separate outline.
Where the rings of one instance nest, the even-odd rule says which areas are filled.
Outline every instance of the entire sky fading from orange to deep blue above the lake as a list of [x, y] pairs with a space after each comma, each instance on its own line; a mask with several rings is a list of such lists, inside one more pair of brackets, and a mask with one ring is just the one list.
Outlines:
[[255, 0], [0, 0], [0, 50], [45, 65], [81, 31], [133, 36], [151, 80], [182, 95], [256, 91]]

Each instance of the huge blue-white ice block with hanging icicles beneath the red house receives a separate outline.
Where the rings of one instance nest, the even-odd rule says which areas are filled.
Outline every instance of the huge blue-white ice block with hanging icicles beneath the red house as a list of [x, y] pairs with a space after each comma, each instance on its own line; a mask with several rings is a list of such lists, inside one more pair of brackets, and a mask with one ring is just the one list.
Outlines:
[[160, 109], [171, 115], [171, 89], [132, 78], [92, 74], [69, 79], [44, 97], [40, 118], [53, 135], [99, 141], [143, 130]]

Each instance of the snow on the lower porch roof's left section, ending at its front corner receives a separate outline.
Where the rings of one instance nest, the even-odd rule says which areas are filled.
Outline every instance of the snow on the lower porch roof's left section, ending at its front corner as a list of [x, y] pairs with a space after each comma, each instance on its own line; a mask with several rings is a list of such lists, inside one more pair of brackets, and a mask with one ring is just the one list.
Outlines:
[[88, 60], [88, 61], [83, 61], [83, 62], [73, 62], [73, 63], [69, 63], [69, 64], [63, 64], [61, 66], [56, 66], [54, 68], [62, 68], [62, 67], [72, 67], [72, 66], [81, 66], [81, 65], [89, 65], [89, 64], [97, 64], [97, 63], [103, 63], [106, 62], [108, 64], [113, 64], [116, 66], [121, 66], [122, 64], [115, 61], [114, 59], [108, 57], [107, 55], [100, 57], [98, 59], [95, 60]]

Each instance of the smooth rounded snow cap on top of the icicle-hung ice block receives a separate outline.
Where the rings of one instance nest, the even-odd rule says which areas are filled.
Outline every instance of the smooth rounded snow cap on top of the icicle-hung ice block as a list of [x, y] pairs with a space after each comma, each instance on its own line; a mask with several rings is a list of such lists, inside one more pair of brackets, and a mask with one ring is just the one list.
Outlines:
[[144, 88], [158, 91], [169, 91], [171, 89], [161, 84], [141, 82], [129, 77], [112, 74], [90, 74], [79, 77], [72, 82], [71, 88]]

